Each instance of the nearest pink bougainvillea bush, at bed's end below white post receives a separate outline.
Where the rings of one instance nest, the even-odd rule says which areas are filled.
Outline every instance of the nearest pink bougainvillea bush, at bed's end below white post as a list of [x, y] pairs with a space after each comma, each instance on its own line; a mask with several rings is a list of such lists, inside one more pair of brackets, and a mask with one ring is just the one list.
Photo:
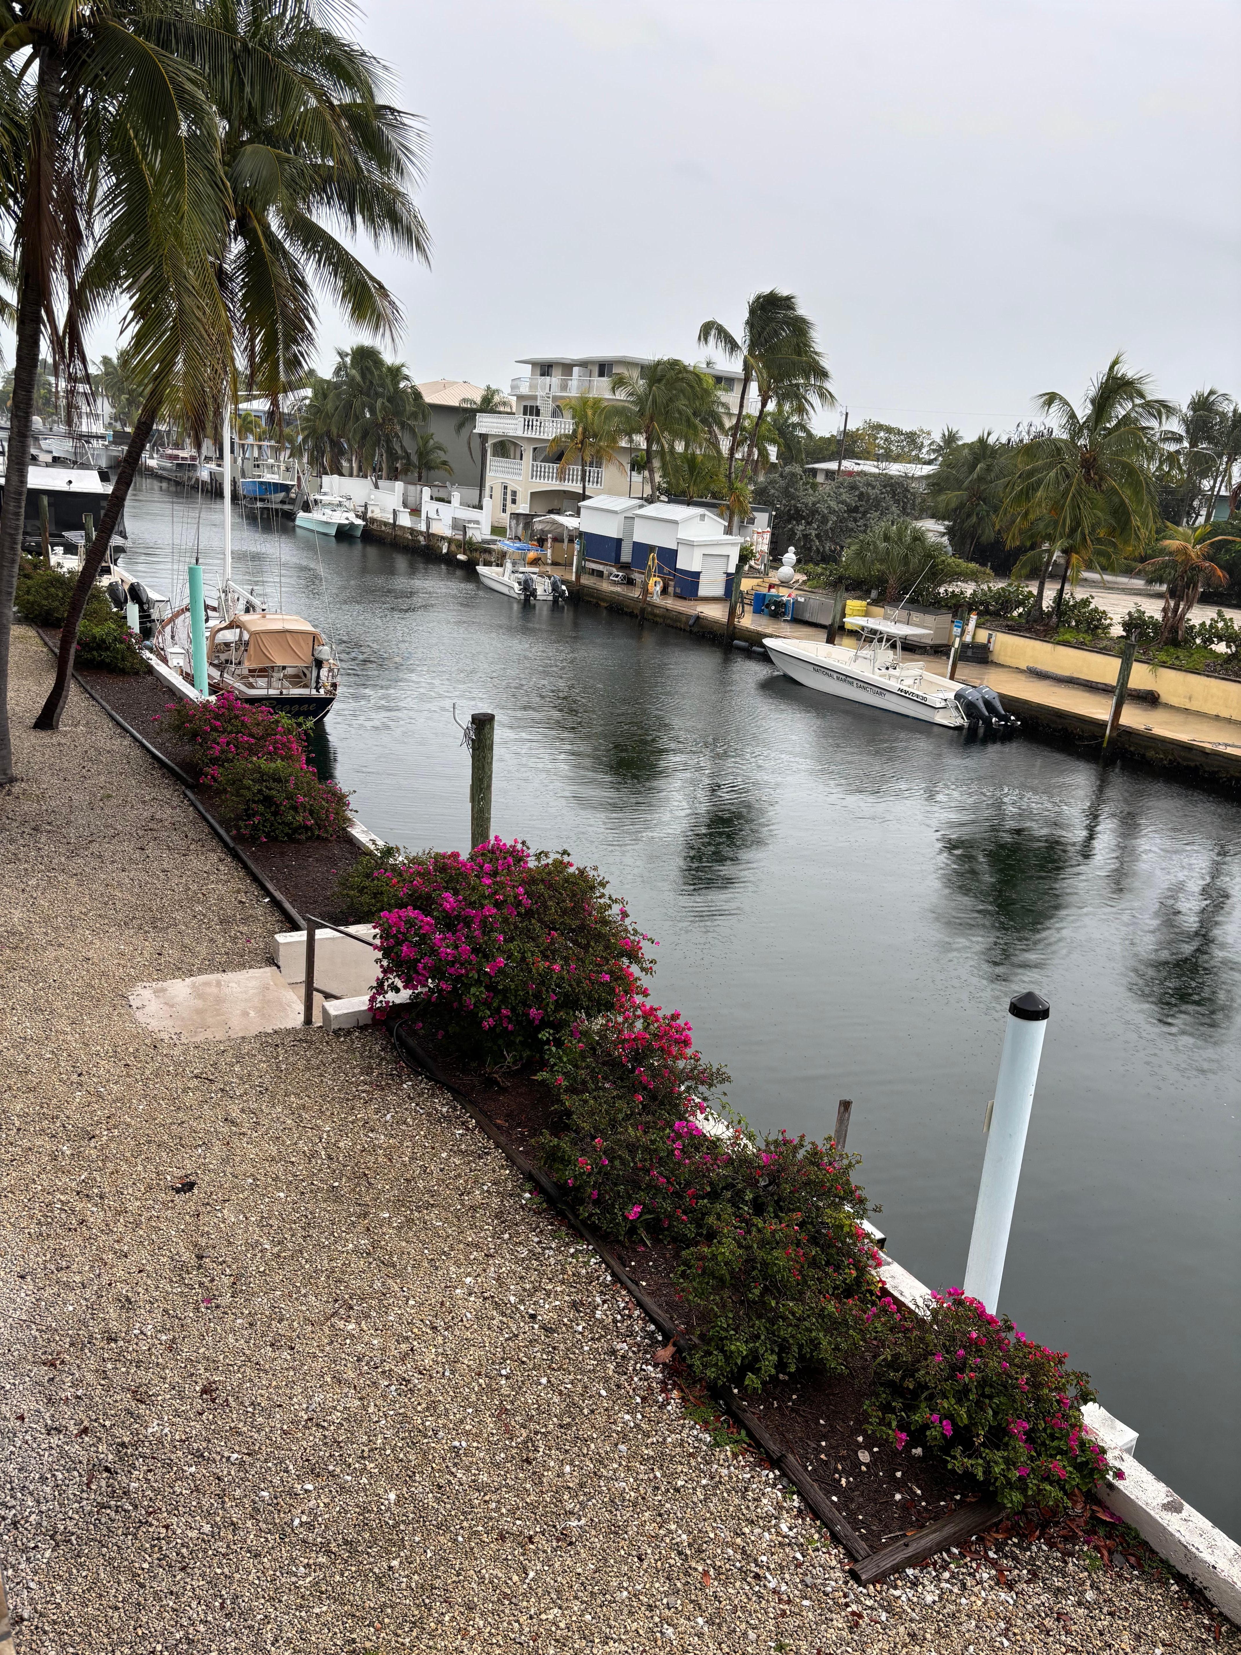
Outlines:
[[897, 1448], [976, 1476], [1011, 1511], [1064, 1511], [1109, 1475], [1082, 1425], [1095, 1394], [1064, 1350], [1028, 1339], [960, 1288], [933, 1294], [928, 1316], [892, 1299], [870, 1316], [870, 1422]]

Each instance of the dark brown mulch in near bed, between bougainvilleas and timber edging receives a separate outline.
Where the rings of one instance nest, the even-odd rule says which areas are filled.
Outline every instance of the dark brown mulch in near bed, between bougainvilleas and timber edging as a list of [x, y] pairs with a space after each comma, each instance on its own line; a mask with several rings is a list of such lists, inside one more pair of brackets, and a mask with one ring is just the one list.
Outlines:
[[[496, 1079], [432, 1049], [430, 1041], [427, 1049], [443, 1079], [486, 1115], [505, 1144], [539, 1165], [539, 1135], [554, 1122], [556, 1099], [551, 1089], [534, 1081], [529, 1071]], [[611, 1246], [668, 1321], [692, 1334], [692, 1309], [675, 1288], [678, 1250], [620, 1243]], [[670, 1379], [692, 1402], [705, 1398], [705, 1387], [693, 1380], [680, 1359], [670, 1364]], [[801, 1461], [824, 1498], [870, 1551], [880, 1551], [985, 1494], [971, 1480], [953, 1475], [917, 1450], [897, 1453], [890, 1443], [875, 1440], [864, 1422], [862, 1369], [841, 1377], [803, 1370], [793, 1379], [774, 1380], [758, 1395], [746, 1394], [741, 1400], [778, 1446]]]

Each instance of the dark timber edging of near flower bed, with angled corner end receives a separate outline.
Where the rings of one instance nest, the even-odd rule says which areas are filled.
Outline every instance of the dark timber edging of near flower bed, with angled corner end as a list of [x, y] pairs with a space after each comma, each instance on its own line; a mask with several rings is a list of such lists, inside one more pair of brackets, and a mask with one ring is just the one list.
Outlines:
[[[639, 1306], [647, 1321], [659, 1327], [660, 1334], [664, 1334], [668, 1342], [677, 1344], [682, 1350], [687, 1350], [693, 1341], [668, 1319], [664, 1309], [652, 1298], [649, 1298], [647, 1293], [644, 1293], [644, 1289], [634, 1281], [625, 1266], [616, 1256], [612, 1248], [607, 1246], [607, 1243], [596, 1235], [589, 1225], [584, 1225], [573, 1208], [566, 1205], [559, 1187], [546, 1175], [546, 1172], [526, 1160], [525, 1155], [506, 1144], [488, 1115], [452, 1084], [452, 1081], [440, 1071], [430, 1053], [419, 1046], [414, 1036], [407, 1031], [404, 1019], [392, 1026], [392, 1044], [407, 1063], [412, 1061], [425, 1076], [429, 1076], [429, 1079], [457, 1099], [475, 1125], [496, 1145], [496, 1149], [525, 1178], [529, 1178], [531, 1183], [538, 1185], [539, 1192], [556, 1213], [564, 1218], [566, 1223], [573, 1225], [577, 1235], [591, 1245], [612, 1276], [616, 1276], [625, 1293]], [[855, 1581], [862, 1581], [862, 1584], [869, 1585], [874, 1581], [882, 1581], [885, 1576], [894, 1574], [897, 1569], [923, 1562], [937, 1551], [943, 1551], [946, 1546], [953, 1546], [960, 1539], [968, 1539], [971, 1534], [993, 1528], [1004, 1514], [1004, 1508], [999, 1501], [971, 1501], [958, 1511], [950, 1513], [946, 1518], [940, 1518], [928, 1524], [925, 1529], [907, 1534], [892, 1546], [885, 1546], [880, 1551], [872, 1552], [854, 1526], [832, 1506], [831, 1499], [824, 1496], [822, 1490], [817, 1486], [806, 1466], [796, 1458], [796, 1455], [788, 1453], [788, 1450], [776, 1443], [763, 1422], [755, 1417], [738, 1395], [730, 1394], [728, 1390], [715, 1389], [712, 1390], [712, 1397], [718, 1407], [728, 1413], [756, 1443], [764, 1458], [771, 1461], [773, 1468], [793, 1483], [807, 1509], [819, 1519], [819, 1523], [822, 1523], [832, 1539], [836, 1539], [849, 1552], [854, 1561], [849, 1572]], [[860, 1569], [865, 1571], [865, 1576], [859, 1572]]]

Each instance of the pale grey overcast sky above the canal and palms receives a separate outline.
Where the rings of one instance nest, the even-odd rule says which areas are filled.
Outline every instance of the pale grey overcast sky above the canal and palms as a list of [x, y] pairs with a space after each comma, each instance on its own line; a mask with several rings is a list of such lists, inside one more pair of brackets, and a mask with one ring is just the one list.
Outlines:
[[379, 255], [417, 379], [693, 356], [779, 286], [854, 422], [1009, 429], [1117, 349], [1241, 396], [1236, 0], [367, 0], [359, 31], [427, 122], [434, 266]]

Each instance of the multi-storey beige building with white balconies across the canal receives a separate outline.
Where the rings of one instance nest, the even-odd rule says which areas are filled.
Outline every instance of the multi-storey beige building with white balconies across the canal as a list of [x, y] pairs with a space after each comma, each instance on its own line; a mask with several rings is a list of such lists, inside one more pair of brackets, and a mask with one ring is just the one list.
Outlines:
[[[486, 467], [491, 492], [491, 521], [505, 533], [510, 518], [541, 516], [551, 511], [574, 511], [582, 496], [581, 467], [559, 463], [548, 457], [556, 437], [569, 432], [573, 422], [563, 417], [563, 404], [571, 397], [606, 397], [614, 401], [612, 376], [624, 371], [635, 374], [647, 356], [531, 356], [518, 357], [525, 374], [510, 382], [511, 414], [480, 414], [475, 430], [490, 439]], [[716, 372], [730, 414], [736, 414], [741, 396], [741, 377], [736, 372]], [[501, 452], [496, 452], [496, 447]], [[645, 478], [635, 455], [642, 453], [642, 439], [622, 445], [616, 460], [602, 467], [587, 467], [587, 495], [634, 495], [642, 498]]]

